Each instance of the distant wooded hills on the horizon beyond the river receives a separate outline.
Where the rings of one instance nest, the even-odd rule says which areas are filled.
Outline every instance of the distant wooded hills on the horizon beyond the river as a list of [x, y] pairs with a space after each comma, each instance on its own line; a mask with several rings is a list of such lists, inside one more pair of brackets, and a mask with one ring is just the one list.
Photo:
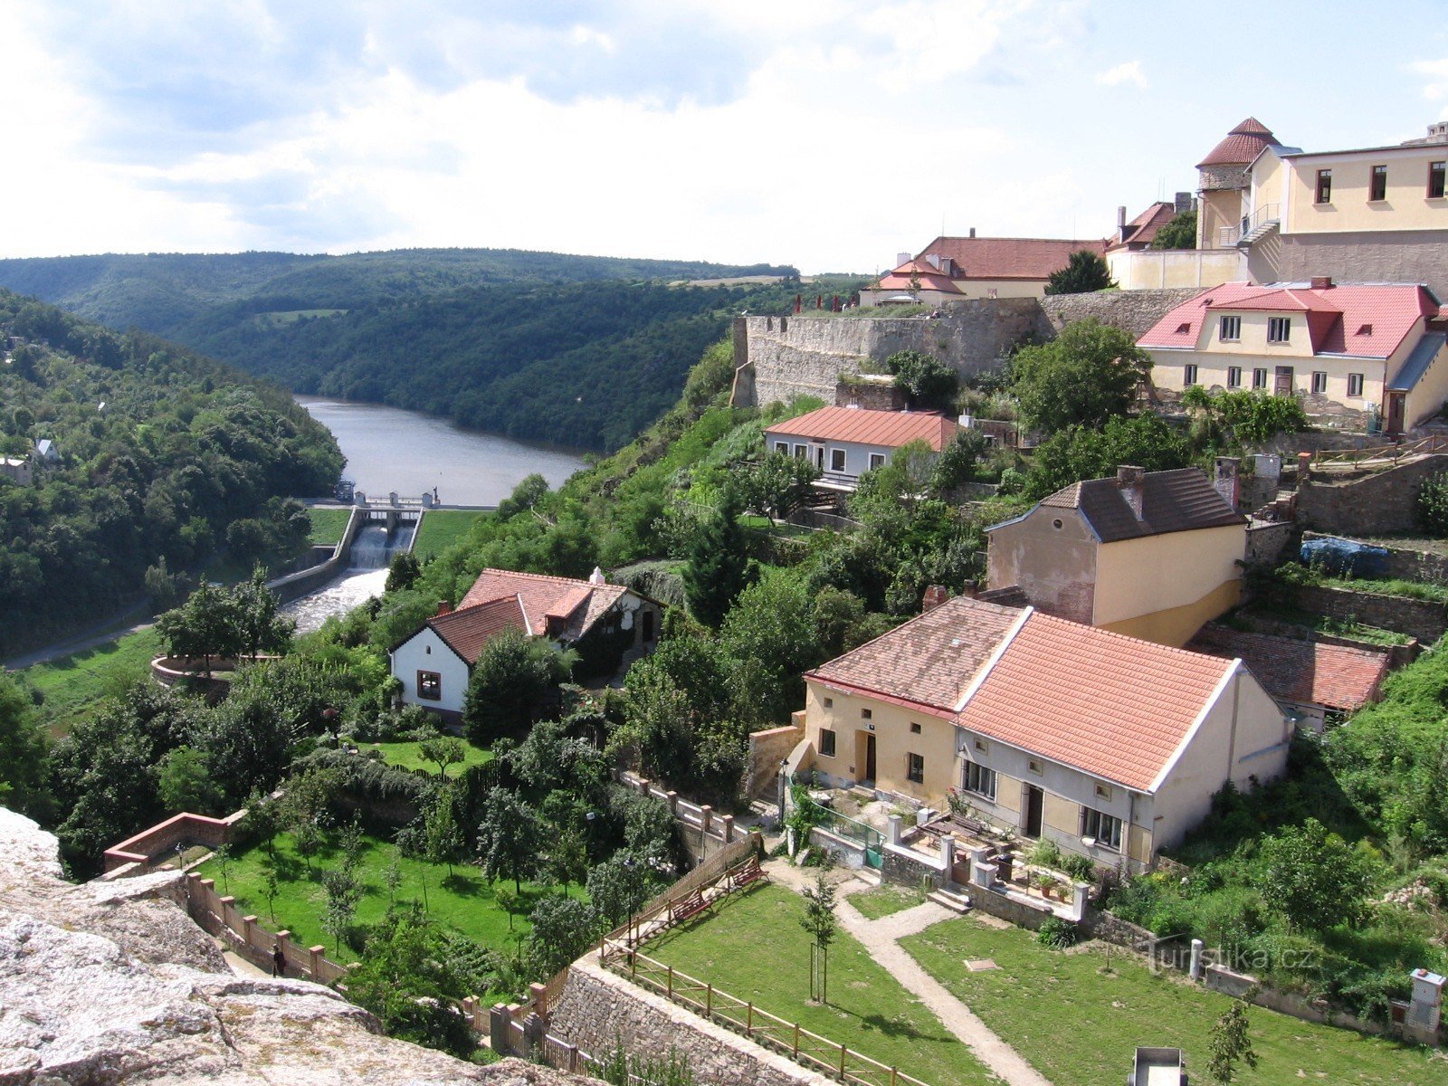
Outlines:
[[[683, 285], [750, 275], [778, 281]], [[610, 450], [678, 400], [733, 316], [801, 291], [794, 268], [487, 249], [0, 261], [0, 284], [298, 392]]]

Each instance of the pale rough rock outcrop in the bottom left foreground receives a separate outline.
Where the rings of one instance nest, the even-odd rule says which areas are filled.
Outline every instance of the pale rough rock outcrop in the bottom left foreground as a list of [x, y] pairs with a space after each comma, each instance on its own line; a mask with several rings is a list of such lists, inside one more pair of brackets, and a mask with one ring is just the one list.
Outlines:
[[178, 877], [67, 883], [55, 838], [0, 808], [0, 1083], [582, 1082], [391, 1040], [320, 985], [235, 976], [175, 904]]

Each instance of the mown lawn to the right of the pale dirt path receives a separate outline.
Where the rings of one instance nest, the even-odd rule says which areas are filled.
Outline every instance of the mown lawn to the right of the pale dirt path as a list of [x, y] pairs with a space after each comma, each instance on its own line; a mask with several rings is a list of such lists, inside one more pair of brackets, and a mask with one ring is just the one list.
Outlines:
[[[1092, 944], [1061, 953], [1019, 928], [948, 919], [901, 944], [1045, 1077], [1072, 1086], [1119, 1086], [1137, 1045], [1186, 1051], [1192, 1082], [1206, 1082], [1208, 1037], [1231, 1001], [1156, 975], [1135, 956], [1114, 951], [1112, 973]], [[970, 973], [966, 959], [999, 969]], [[1428, 1050], [1363, 1037], [1248, 1008], [1257, 1070], [1241, 1086], [1286, 1082], [1428, 1086], [1448, 1082], [1448, 1061]]]

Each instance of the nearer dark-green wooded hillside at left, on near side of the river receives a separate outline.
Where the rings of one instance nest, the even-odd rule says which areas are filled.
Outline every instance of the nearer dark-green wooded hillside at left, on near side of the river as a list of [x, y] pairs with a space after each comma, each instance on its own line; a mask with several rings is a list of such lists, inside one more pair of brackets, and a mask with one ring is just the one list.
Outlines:
[[[139, 598], [148, 568], [198, 569], [223, 542], [261, 556], [295, 502], [342, 471], [332, 434], [282, 390], [149, 333], [114, 333], [0, 290], [0, 654]], [[301, 518], [301, 524], [306, 518]], [[306, 531], [301, 531], [306, 537]], [[164, 559], [164, 563], [162, 563]]]

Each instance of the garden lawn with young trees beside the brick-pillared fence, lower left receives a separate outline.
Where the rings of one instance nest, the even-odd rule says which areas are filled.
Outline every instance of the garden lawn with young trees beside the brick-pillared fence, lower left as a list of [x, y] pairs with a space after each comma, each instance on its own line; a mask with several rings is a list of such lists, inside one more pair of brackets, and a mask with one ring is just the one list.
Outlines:
[[[368, 837], [358, 867], [358, 877], [366, 888], [366, 893], [358, 905], [356, 922], [375, 924], [387, 915], [388, 895], [384, 873], [392, 862], [394, 849], [387, 841]], [[285, 927], [292, 933], [301, 946], [326, 944], [327, 957], [333, 961], [355, 961], [356, 954], [342, 944], [339, 951], [332, 937], [321, 928], [321, 914], [326, 911], [326, 892], [321, 889], [320, 873], [324, 867], [337, 867], [340, 853], [330, 844], [311, 857], [311, 872], [307, 862], [297, 854], [295, 841], [291, 834], [277, 837], [277, 898], [268, 904], [265, 892], [265, 877], [262, 875], [265, 853], [261, 849], [251, 849], [236, 856], [227, 864], [227, 877], [223, 886], [220, 864], [213, 859], [201, 867], [201, 875], [216, 879], [219, 893], [232, 893], [237, 906], [243, 912], [253, 912], [261, 922], [275, 931]], [[397, 892], [400, 905], [408, 902], [423, 902], [424, 882], [429, 915], [439, 924], [456, 928], [468, 938], [476, 940], [489, 947], [507, 947], [511, 940], [521, 938], [529, 933], [527, 915], [533, 911], [539, 898], [544, 893], [557, 893], [557, 888], [543, 889], [533, 883], [523, 883], [523, 895], [518, 899], [517, 914], [513, 918], [513, 930], [508, 930], [508, 914], [494, 896], [494, 888], [471, 866], [455, 866], [452, 877], [447, 869], [424, 860], [401, 857], [400, 862], [403, 882]], [[510, 889], [513, 883], [507, 885]], [[569, 888], [575, 896], [581, 893], [578, 886]], [[481, 995], [481, 993], [479, 993]]]

